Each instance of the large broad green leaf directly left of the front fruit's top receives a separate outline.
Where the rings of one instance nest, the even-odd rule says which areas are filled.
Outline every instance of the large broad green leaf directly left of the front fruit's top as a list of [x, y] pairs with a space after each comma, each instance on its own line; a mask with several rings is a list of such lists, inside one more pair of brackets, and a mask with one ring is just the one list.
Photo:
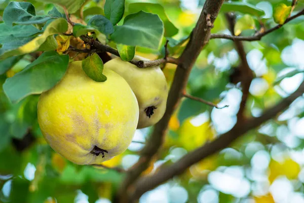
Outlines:
[[23, 71], [5, 81], [5, 94], [12, 103], [17, 103], [27, 95], [49, 90], [63, 77], [68, 61], [68, 55], [59, 55], [56, 51], [44, 52]]

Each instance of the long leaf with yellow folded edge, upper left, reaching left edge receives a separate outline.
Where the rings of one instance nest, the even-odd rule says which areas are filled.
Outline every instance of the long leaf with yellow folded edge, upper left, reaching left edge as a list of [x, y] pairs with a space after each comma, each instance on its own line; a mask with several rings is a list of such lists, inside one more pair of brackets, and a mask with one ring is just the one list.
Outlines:
[[0, 43], [3, 44], [3, 47], [0, 49], [0, 60], [14, 55], [34, 52], [40, 48], [49, 36], [65, 32], [67, 27], [67, 21], [63, 18], [58, 18], [49, 23], [43, 34], [36, 38], [32, 36], [26, 38], [6, 36], [9, 40], [3, 42], [0, 37]]

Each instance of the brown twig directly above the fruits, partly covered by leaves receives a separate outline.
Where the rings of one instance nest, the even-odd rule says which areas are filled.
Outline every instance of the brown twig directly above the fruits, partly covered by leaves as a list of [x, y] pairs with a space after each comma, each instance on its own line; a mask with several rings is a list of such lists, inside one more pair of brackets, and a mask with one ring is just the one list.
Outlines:
[[[81, 39], [85, 42], [88, 43], [90, 45], [92, 45], [93, 47], [97, 48], [95, 50], [97, 50], [98, 52], [109, 52], [113, 55], [116, 55], [118, 57], [120, 57], [119, 52], [116, 49], [113, 49], [107, 45], [103, 45], [100, 42], [89, 38], [87, 36], [82, 36]], [[167, 59], [162, 58], [162, 59], [157, 59], [157, 60], [151, 60], [151, 61], [143, 61], [143, 60], [136, 60], [133, 59], [130, 61], [130, 63], [133, 63], [134, 65], [136, 65], [137, 67], [141, 67], [141, 68], [145, 68], [145, 67], [151, 67], [151, 66], [157, 66], [160, 65], [162, 63], [173, 63], [173, 64], [178, 64], [178, 59], [177, 58], [173, 58], [173, 57], [167, 57]]]

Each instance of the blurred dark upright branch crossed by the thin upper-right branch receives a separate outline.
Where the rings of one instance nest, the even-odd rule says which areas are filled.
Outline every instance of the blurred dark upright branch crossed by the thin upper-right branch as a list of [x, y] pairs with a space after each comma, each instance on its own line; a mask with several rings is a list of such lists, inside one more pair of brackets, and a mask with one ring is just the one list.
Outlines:
[[[234, 27], [235, 27], [235, 21], [236, 17], [234, 14], [226, 14], [226, 19], [229, 23], [229, 29], [234, 36]], [[242, 100], [240, 104], [240, 109], [237, 114], [238, 124], [244, 120], [244, 111], [246, 108], [246, 102], [249, 95], [249, 88], [250, 84], [253, 79], [253, 73], [249, 67], [247, 58], [246, 58], [246, 51], [244, 49], [244, 45], [241, 41], [235, 41], [234, 42], [236, 50], [240, 56], [241, 64], [239, 66], [240, 73], [241, 73], [241, 85], [242, 85]]]

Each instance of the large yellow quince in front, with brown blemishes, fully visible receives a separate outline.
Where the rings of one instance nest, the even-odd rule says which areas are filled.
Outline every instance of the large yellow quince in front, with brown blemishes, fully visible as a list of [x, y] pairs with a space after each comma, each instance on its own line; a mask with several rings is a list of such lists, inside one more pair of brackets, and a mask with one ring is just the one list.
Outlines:
[[[47, 143], [76, 164], [94, 164], [123, 153], [138, 122], [136, 97], [117, 73], [103, 70], [105, 82], [95, 82], [74, 61], [62, 80], [41, 94], [38, 122]], [[104, 152], [91, 153], [97, 146]]]

